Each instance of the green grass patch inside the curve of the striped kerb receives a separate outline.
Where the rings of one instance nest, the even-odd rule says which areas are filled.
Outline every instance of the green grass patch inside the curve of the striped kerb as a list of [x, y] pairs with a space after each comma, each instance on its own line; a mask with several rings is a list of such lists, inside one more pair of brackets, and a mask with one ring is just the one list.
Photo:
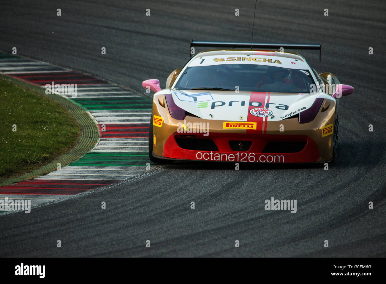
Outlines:
[[57, 159], [80, 136], [80, 127], [66, 108], [2, 78], [0, 125], [0, 180]]

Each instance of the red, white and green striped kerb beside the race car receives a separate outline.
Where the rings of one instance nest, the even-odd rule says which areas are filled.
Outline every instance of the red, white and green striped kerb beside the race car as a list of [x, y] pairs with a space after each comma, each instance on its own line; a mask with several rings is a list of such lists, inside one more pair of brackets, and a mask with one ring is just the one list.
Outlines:
[[100, 131], [91, 152], [44, 176], [1, 186], [0, 198], [31, 199], [35, 206], [136, 176], [146, 171], [147, 163], [147, 169], [151, 168], [147, 139], [152, 102], [148, 97], [76, 71], [8, 54], [0, 54], [0, 72], [42, 88], [76, 84], [75, 95], [67, 89], [56, 93], [82, 106]]

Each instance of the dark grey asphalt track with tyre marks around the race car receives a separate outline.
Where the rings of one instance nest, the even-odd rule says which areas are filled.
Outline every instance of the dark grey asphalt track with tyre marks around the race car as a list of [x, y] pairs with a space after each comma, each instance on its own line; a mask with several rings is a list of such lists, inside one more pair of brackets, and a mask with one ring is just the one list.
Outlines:
[[[0, 49], [16, 46], [22, 56], [136, 90], [149, 78], [164, 86], [189, 59], [190, 39], [251, 40], [254, 2], [224, 2], [1, 1]], [[1, 256], [385, 256], [385, 14], [383, 1], [257, 3], [254, 41], [322, 42], [321, 63], [318, 52], [300, 53], [355, 88], [340, 100], [339, 157], [328, 171], [163, 166], [30, 214], [1, 216]], [[264, 210], [271, 197], [297, 199], [297, 213]]]

